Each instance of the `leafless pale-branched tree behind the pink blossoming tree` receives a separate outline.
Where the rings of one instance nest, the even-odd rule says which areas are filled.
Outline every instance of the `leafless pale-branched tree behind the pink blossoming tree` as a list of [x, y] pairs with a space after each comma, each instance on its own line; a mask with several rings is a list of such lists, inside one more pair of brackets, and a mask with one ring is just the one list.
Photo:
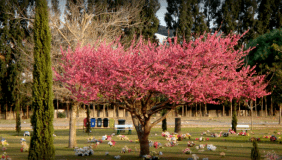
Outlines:
[[[68, 9], [64, 19], [60, 18], [58, 12], [52, 12], [49, 18], [52, 33], [51, 58], [53, 69], [58, 72], [61, 49], [74, 49], [77, 45], [93, 45], [102, 41], [111, 42], [123, 34], [124, 28], [139, 24], [137, 19], [141, 11], [131, 5], [123, 5], [114, 12], [105, 11], [99, 6], [87, 10], [82, 0], [76, 4], [69, 3]], [[72, 98], [70, 92], [60, 82], [54, 82], [53, 90], [57, 100]], [[100, 103], [102, 102], [104, 101], [101, 100]], [[76, 146], [75, 124], [79, 105], [74, 99], [71, 106], [69, 148]]]

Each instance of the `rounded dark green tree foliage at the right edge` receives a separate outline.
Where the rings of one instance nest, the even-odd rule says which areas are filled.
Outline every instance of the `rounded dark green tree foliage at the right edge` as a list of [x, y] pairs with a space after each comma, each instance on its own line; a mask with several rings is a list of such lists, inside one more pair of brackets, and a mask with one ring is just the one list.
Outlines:
[[268, 74], [268, 91], [272, 92], [272, 98], [277, 103], [282, 102], [282, 54], [279, 46], [282, 46], [282, 30], [275, 29], [251, 40], [247, 48], [256, 48], [246, 57], [247, 64], [256, 65], [257, 73]]

